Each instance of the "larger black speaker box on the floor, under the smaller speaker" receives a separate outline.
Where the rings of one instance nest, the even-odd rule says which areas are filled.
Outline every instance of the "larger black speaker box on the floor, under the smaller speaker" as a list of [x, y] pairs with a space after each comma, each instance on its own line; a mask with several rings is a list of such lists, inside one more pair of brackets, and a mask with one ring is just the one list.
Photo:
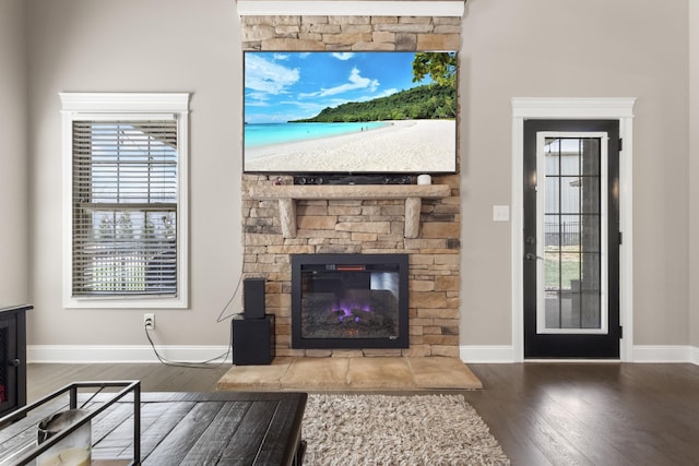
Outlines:
[[274, 315], [262, 319], [235, 318], [233, 325], [233, 363], [270, 365], [274, 357]]

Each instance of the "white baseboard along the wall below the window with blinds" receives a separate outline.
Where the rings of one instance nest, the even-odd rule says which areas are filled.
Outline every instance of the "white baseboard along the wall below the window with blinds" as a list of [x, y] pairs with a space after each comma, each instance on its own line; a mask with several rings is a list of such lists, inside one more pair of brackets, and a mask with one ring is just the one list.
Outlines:
[[[233, 356], [225, 346], [157, 346], [161, 357], [174, 362], [204, 362], [213, 358], [232, 362]], [[27, 362], [52, 363], [146, 363], [159, 362], [149, 345], [28, 345]]]

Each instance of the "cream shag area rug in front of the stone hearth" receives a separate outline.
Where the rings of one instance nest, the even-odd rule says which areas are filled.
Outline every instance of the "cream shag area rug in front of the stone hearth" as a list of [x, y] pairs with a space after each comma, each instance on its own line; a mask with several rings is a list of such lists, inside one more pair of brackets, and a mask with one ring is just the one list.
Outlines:
[[509, 465], [459, 395], [310, 394], [304, 465]]

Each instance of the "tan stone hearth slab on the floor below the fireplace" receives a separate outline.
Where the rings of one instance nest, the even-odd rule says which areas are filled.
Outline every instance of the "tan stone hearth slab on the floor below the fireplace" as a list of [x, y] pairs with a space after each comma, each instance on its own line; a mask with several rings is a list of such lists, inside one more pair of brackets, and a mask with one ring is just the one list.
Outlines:
[[269, 366], [234, 366], [221, 391], [478, 390], [483, 384], [458, 358], [275, 358]]

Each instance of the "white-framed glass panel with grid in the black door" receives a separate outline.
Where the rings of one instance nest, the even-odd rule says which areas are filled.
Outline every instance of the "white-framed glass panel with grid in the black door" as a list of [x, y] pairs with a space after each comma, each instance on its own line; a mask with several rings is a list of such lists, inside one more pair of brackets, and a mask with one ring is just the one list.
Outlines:
[[540, 334], [607, 331], [604, 140], [594, 133], [537, 139]]

